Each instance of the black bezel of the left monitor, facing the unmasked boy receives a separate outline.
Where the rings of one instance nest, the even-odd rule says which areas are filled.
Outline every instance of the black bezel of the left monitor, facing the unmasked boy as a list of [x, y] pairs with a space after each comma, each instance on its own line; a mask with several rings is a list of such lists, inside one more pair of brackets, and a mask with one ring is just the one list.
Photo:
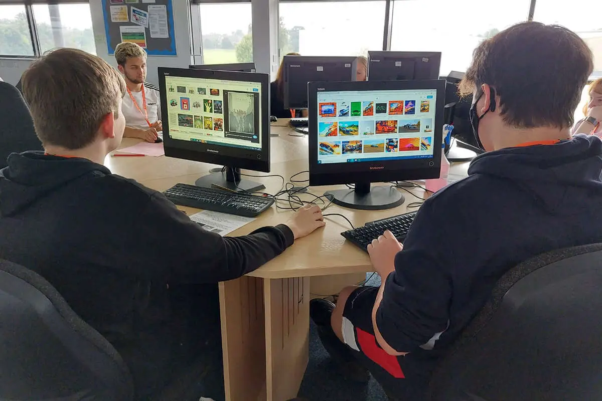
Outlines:
[[[246, 168], [247, 170], [262, 171], [264, 173], [270, 172], [270, 76], [268, 74], [159, 67], [158, 76], [161, 110], [164, 113], [167, 113], [169, 107], [167, 105], [166, 76], [258, 82], [261, 84], [259, 101], [261, 102], [262, 113], [259, 118], [261, 118], [262, 146], [260, 150], [172, 139], [169, 135], [169, 120], [167, 118], [163, 118], [163, 147], [165, 155], [171, 158]], [[167, 117], [167, 114], [165, 116]], [[207, 152], [208, 148], [211, 148], [212, 152]]]

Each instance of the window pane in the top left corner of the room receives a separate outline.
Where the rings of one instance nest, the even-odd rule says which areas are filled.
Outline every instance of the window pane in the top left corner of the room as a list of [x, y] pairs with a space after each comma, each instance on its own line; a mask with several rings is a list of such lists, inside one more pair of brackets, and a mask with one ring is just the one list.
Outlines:
[[25, 5], [0, 5], [0, 55], [34, 55]]

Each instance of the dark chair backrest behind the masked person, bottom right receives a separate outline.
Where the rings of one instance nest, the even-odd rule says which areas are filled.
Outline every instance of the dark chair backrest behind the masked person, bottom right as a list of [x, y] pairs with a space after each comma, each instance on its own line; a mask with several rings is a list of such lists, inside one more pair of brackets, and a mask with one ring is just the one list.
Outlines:
[[427, 399], [600, 399], [601, 310], [602, 244], [521, 263], [441, 361]]

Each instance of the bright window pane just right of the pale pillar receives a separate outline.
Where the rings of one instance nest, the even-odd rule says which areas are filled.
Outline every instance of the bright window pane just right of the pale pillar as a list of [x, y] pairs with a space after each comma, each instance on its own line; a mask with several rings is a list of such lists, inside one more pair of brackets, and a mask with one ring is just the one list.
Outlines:
[[385, 1], [284, 2], [279, 11], [281, 58], [289, 52], [356, 56], [382, 50]]

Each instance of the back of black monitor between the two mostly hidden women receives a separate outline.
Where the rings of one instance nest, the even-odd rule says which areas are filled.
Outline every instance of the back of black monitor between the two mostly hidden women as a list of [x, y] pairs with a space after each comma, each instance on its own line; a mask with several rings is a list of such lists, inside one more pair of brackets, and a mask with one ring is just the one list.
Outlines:
[[357, 57], [284, 56], [284, 108], [306, 109], [308, 82], [353, 81]]

